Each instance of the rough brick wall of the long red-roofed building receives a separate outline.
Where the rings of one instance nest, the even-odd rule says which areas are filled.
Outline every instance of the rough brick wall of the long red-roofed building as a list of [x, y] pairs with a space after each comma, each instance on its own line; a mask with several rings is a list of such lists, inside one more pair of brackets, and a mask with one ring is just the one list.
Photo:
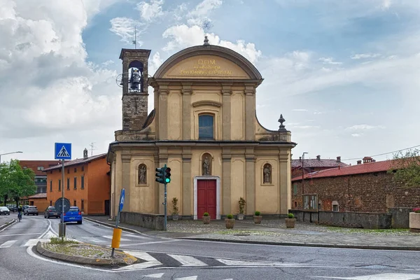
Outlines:
[[[332, 211], [333, 201], [340, 212], [385, 213], [388, 208], [419, 207], [420, 188], [405, 188], [394, 183], [392, 176], [377, 172], [305, 179], [304, 194], [318, 195], [321, 211]], [[292, 182], [292, 209], [303, 209], [302, 181]]]

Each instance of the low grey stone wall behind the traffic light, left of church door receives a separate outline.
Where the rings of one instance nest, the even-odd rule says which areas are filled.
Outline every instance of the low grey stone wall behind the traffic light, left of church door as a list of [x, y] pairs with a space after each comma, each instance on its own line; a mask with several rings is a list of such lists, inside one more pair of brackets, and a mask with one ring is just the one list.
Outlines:
[[165, 216], [157, 214], [121, 212], [120, 223], [139, 225], [152, 230], [164, 230]]

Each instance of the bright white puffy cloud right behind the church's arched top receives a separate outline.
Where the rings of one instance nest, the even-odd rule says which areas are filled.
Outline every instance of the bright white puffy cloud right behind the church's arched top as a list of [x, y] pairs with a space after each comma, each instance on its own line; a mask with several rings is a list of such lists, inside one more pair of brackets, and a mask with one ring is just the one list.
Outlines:
[[[193, 25], [192, 27], [188, 27], [187, 25], [169, 27], [162, 36], [171, 40], [162, 48], [165, 51], [172, 51], [176, 48], [187, 48], [193, 45], [202, 45], [204, 41], [204, 31], [197, 25]], [[215, 34], [208, 34], [208, 38], [211, 45], [221, 45], [222, 47], [235, 50], [241, 55], [244, 55], [252, 63], [257, 62], [262, 56], [262, 52], [257, 50], [253, 43], [245, 43], [242, 40], [238, 40], [236, 43], [223, 41]]]

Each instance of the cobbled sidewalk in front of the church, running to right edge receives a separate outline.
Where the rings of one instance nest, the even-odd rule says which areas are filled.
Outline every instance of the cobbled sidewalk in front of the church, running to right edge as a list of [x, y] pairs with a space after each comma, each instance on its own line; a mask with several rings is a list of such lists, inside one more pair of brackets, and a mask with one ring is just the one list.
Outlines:
[[[111, 227], [115, 221], [108, 216], [87, 216]], [[123, 230], [153, 237], [227, 241], [248, 244], [283, 246], [315, 246], [330, 248], [368, 248], [381, 250], [420, 251], [420, 233], [409, 230], [363, 230], [332, 228], [311, 223], [296, 222], [295, 228], [286, 229], [283, 219], [262, 221], [256, 225], [252, 220], [235, 221], [234, 230], [225, 228], [225, 221], [212, 220], [209, 225], [202, 221], [168, 221], [167, 232], [141, 228], [120, 223]]]

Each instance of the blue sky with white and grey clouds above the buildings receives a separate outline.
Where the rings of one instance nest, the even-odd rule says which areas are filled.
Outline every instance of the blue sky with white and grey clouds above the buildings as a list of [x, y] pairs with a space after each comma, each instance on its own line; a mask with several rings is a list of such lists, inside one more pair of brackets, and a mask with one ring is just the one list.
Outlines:
[[[106, 153], [122, 128], [121, 48], [151, 50], [149, 74], [209, 43], [262, 74], [257, 116], [292, 133], [293, 158], [356, 164], [420, 145], [420, 1], [0, 0], [1, 161]], [[149, 90], [153, 92], [153, 90]], [[153, 93], [148, 111], [153, 110]]]

